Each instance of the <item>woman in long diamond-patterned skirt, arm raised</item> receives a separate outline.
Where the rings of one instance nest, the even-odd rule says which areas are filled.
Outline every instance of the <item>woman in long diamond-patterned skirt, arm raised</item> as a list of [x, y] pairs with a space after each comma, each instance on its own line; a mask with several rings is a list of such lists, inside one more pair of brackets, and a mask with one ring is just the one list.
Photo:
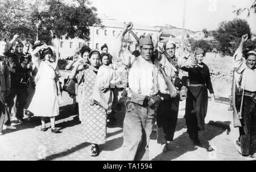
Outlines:
[[106, 142], [106, 110], [92, 99], [94, 85], [96, 83], [98, 68], [100, 67], [100, 52], [92, 51], [89, 54], [89, 68], [77, 73], [82, 61], [75, 65], [69, 78], [76, 77], [77, 82], [82, 80], [83, 91], [81, 95], [79, 115], [82, 134], [86, 142], [92, 143], [91, 156], [98, 156], [99, 144]]

